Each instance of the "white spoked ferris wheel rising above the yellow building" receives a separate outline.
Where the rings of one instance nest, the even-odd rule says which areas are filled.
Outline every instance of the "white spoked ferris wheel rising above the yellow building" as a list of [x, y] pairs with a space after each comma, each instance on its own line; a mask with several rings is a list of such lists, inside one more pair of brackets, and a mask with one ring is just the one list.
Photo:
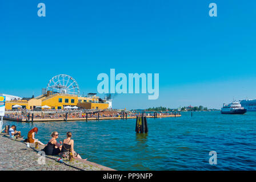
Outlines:
[[77, 81], [69, 75], [57, 75], [47, 84], [47, 90], [63, 94], [80, 94]]

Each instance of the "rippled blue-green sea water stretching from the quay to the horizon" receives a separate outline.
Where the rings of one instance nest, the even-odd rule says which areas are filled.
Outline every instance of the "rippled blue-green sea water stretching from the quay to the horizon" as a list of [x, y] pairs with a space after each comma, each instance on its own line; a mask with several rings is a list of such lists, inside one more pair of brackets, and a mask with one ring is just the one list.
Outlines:
[[[219, 111], [181, 112], [177, 118], [147, 118], [149, 132], [135, 133], [135, 119], [74, 122], [12, 122], [22, 135], [38, 127], [47, 143], [71, 131], [82, 158], [117, 170], [255, 170], [256, 112], [225, 115]], [[26, 137], [25, 137], [26, 138]], [[209, 164], [210, 151], [217, 164]]]

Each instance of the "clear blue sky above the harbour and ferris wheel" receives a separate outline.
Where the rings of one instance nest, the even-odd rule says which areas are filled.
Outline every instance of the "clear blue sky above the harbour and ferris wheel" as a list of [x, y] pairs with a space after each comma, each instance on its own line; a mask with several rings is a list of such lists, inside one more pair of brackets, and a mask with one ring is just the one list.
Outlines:
[[[46, 17], [37, 16], [40, 2]], [[256, 98], [255, 18], [255, 1], [1, 1], [0, 93], [37, 96], [59, 74], [97, 92], [98, 74], [115, 68], [159, 73], [158, 100], [121, 94], [115, 108]]]

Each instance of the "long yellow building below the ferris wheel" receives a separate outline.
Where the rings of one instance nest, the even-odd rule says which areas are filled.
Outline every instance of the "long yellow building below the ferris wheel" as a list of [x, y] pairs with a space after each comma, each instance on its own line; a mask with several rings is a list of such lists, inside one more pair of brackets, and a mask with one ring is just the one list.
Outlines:
[[85, 109], [107, 109], [109, 104], [100, 103], [96, 94], [89, 93], [88, 97], [80, 97], [71, 94], [59, 94], [47, 92], [47, 94], [27, 100], [6, 101], [6, 109], [12, 109], [14, 105], [21, 105], [26, 109], [34, 109], [37, 106], [49, 106], [51, 109], [63, 109], [65, 106], [78, 106]]

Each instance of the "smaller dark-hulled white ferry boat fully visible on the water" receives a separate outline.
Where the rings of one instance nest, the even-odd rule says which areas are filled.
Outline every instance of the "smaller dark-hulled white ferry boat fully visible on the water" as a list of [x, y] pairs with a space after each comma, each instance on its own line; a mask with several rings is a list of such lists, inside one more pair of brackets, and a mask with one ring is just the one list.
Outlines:
[[246, 109], [239, 102], [232, 102], [229, 105], [223, 104], [221, 114], [245, 114]]

